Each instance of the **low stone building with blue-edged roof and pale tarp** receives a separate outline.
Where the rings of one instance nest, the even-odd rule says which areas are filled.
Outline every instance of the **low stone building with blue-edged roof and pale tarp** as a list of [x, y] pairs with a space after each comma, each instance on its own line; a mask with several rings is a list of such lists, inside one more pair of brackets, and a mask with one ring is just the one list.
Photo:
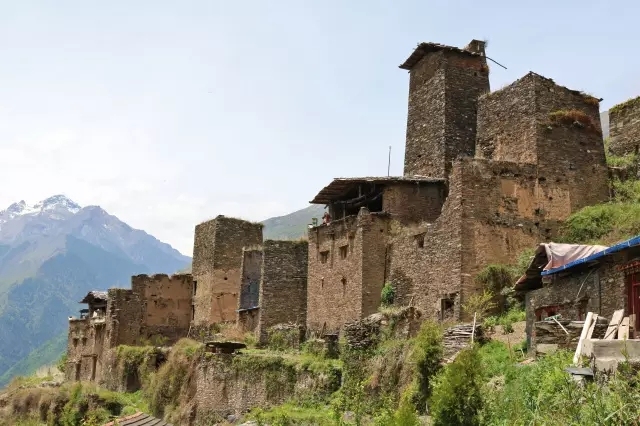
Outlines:
[[574, 250], [585, 255], [548, 266], [548, 252], [538, 249], [515, 286], [525, 295], [530, 347], [535, 346], [534, 322], [558, 314], [580, 321], [593, 312], [610, 319], [614, 311], [624, 309], [625, 316], [635, 314], [632, 326], [640, 330], [640, 236], [612, 247]]

